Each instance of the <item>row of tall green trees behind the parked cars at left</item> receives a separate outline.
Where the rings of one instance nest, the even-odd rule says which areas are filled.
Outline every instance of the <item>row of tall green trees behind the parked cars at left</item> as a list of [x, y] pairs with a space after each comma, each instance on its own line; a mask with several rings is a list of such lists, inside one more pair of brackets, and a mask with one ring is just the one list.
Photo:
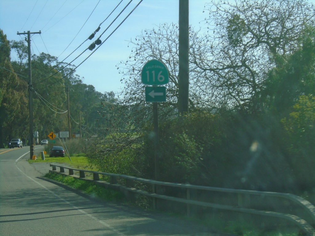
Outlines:
[[[25, 42], [9, 41], [0, 30], [0, 145], [4, 148], [12, 138], [29, 142], [28, 50]], [[10, 53], [16, 53], [12, 61]], [[75, 66], [67, 66], [46, 53], [31, 56], [33, 88], [33, 131], [39, 142], [48, 134], [69, 130], [71, 134], [90, 138], [106, 129], [108, 122], [99, 115], [111, 110], [117, 99], [113, 92], [100, 93], [83, 83]], [[80, 123], [81, 119], [81, 123]], [[81, 129], [80, 129], [81, 128]]]

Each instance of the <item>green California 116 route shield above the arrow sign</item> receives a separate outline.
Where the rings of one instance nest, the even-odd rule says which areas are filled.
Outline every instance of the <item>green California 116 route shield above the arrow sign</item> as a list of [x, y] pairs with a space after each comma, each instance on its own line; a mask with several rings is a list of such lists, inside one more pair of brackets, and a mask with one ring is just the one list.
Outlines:
[[142, 68], [141, 81], [147, 85], [161, 85], [169, 82], [169, 70], [163, 62], [148, 61]]

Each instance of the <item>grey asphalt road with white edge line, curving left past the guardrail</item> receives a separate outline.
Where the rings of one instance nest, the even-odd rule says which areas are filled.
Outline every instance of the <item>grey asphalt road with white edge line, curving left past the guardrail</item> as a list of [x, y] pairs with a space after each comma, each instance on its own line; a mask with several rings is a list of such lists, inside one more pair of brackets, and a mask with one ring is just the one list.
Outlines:
[[[35, 146], [35, 153], [43, 149]], [[29, 164], [29, 147], [0, 149], [0, 235], [211, 235], [191, 222], [91, 200], [45, 180], [49, 163]]]

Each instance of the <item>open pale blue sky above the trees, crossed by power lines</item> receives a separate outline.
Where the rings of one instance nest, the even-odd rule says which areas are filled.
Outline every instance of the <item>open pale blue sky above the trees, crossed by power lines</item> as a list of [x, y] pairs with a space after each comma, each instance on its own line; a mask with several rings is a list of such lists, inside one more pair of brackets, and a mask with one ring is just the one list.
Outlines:
[[[8, 40], [16, 41], [25, 38], [23, 35], [17, 35], [17, 31], [41, 31], [41, 35], [32, 35], [32, 54], [49, 53], [62, 61], [97, 29], [120, 1], [0, 0], [0, 29], [7, 35]], [[117, 22], [103, 34], [102, 40], [112, 33], [139, 1], [130, 3]], [[204, 24], [199, 22], [208, 15], [203, 13], [206, 0], [189, 2], [189, 24], [197, 29], [204, 27]], [[112, 16], [101, 24], [96, 37], [85, 42], [65, 62], [72, 61], [88, 48], [128, 3], [129, 0], [123, 0]], [[127, 40], [134, 39], [144, 29], [157, 28], [155, 25], [178, 23], [178, 8], [179, 0], [143, 0], [117, 31], [76, 69], [76, 73], [81, 78], [84, 77], [83, 83], [93, 85], [101, 93], [119, 92], [123, 84], [116, 65], [120, 60], [126, 60], [131, 53]], [[79, 65], [90, 53], [91, 51], [87, 50], [72, 64]]]

